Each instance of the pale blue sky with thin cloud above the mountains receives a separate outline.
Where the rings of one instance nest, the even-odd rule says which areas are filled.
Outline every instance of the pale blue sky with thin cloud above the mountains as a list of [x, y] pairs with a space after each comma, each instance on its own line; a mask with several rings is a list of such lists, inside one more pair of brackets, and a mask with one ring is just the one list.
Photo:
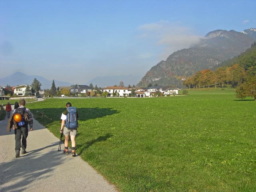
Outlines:
[[210, 31], [256, 28], [255, 8], [255, 0], [0, 0], [0, 76], [142, 78]]

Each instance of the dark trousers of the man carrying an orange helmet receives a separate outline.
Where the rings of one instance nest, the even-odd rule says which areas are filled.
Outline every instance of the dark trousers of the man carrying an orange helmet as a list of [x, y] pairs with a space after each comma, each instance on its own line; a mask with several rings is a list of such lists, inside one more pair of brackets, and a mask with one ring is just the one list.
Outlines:
[[[28, 126], [16, 128], [14, 130], [14, 134], [15, 134], [15, 151], [20, 151], [20, 147], [22, 148], [22, 150], [25, 150], [27, 148]], [[21, 144], [20, 144], [20, 140], [21, 140]]]

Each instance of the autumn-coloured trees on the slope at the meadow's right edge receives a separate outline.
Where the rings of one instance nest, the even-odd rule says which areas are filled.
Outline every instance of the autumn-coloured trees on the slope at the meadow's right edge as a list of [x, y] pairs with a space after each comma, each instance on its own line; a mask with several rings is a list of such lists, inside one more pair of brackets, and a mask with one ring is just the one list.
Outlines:
[[[225, 84], [237, 88], [237, 96], [256, 95], [256, 42], [246, 52], [233, 58], [229, 62], [216, 70], [201, 70], [194, 76], [186, 78], [183, 85], [186, 88], [204, 88], [220, 84], [222, 88]], [[256, 96], [254, 97], [256, 99]]]

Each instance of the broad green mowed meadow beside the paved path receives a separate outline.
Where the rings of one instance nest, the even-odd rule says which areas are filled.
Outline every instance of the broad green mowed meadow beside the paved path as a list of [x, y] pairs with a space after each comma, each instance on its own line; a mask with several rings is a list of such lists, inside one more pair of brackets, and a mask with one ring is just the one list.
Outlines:
[[256, 191], [252, 98], [200, 89], [185, 96], [27, 104], [56, 141], [66, 102], [79, 112], [77, 153], [121, 192]]

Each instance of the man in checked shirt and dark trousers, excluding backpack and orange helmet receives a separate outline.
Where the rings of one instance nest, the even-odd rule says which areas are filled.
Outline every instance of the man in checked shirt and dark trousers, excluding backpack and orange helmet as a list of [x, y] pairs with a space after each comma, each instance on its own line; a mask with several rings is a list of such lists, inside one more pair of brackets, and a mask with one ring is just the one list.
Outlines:
[[[14, 129], [15, 134], [15, 157], [20, 157], [20, 147], [22, 148], [21, 154], [26, 154], [26, 148], [27, 148], [27, 137], [28, 137], [28, 124], [30, 126], [30, 131], [33, 130], [33, 118], [30, 110], [28, 108], [25, 108], [26, 101], [24, 99], [20, 100], [20, 106], [18, 108], [24, 109], [24, 118], [26, 120], [25, 114], [27, 114], [27, 123], [24, 124], [24, 126], [15, 126], [13, 125], [12, 128]], [[17, 109], [14, 109], [13, 114], [16, 113]], [[10, 125], [9, 125], [10, 126]], [[7, 127], [8, 128], [8, 127]], [[21, 144], [20, 144], [21, 141]]]

